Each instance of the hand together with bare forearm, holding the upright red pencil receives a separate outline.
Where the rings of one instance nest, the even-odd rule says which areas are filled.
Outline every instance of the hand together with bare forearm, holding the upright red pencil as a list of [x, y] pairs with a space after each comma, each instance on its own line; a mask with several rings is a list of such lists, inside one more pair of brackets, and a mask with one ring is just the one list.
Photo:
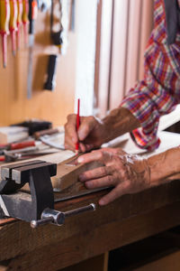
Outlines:
[[113, 109], [102, 120], [93, 116], [80, 117], [78, 131], [76, 131], [76, 114], [72, 114], [67, 117], [65, 125], [65, 148], [75, 151], [76, 143], [80, 141], [80, 151], [90, 151], [137, 127], [138, 119], [123, 107]]

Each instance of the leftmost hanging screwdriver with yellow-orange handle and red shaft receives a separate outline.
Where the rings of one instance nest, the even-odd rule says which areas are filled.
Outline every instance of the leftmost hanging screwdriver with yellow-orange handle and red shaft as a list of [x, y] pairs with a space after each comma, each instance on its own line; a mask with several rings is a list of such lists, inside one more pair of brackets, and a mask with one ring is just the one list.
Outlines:
[[3, 66], [7, 65], [7, 34], [9, 34], [9, 0], [0, 0], [0, 34], [3, 42]]

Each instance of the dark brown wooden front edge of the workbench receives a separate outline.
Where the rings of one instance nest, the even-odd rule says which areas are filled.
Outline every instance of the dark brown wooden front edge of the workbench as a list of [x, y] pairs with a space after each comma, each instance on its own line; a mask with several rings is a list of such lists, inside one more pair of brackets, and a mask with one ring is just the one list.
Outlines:
[[105, 191], [58, 202], [57, 210], [91, 202], [97, 204], [97, 210], [68, 218], [61, 227], [31, 229], [23, 221], [1, 226], [0, 264], [8, 260], [5, 270], [58, 270], [172, 228], [180, 223], [179, 190], [180, 182], [174, 181], [122, 196], [104, 207], [97, 202]]

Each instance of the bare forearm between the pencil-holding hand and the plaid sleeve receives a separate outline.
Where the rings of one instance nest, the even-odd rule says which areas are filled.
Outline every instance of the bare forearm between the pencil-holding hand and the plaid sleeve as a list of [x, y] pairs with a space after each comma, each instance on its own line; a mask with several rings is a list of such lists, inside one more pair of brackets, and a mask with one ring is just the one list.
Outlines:
[[130, 113], [130, 110], [123, 107], [113, 109], [108, 116], [103, 118], [103, 124], [108, 131], [105, 142], [140, 126], [139, 120]]

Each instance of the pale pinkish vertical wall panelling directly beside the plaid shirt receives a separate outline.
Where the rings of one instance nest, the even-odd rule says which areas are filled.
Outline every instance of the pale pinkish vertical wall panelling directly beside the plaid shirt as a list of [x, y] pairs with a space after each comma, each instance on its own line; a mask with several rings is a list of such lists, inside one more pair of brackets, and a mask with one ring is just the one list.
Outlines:
[[[118, 107], [124, 95], [143, 77], [143, 55], [153, 27], [153, 2], [153, 0], [113, 2], [109, 106], [103, 100], [101, 107], [103, 115], [104, 107], [106, 110]], [[101, 70], [103, 71], [102, 67]], [[105, 81], [106, 73], [101, 76], [102, 81]], [[103, 94], [102, 97], [107, 97], [107, 91], [106, 96]]]

